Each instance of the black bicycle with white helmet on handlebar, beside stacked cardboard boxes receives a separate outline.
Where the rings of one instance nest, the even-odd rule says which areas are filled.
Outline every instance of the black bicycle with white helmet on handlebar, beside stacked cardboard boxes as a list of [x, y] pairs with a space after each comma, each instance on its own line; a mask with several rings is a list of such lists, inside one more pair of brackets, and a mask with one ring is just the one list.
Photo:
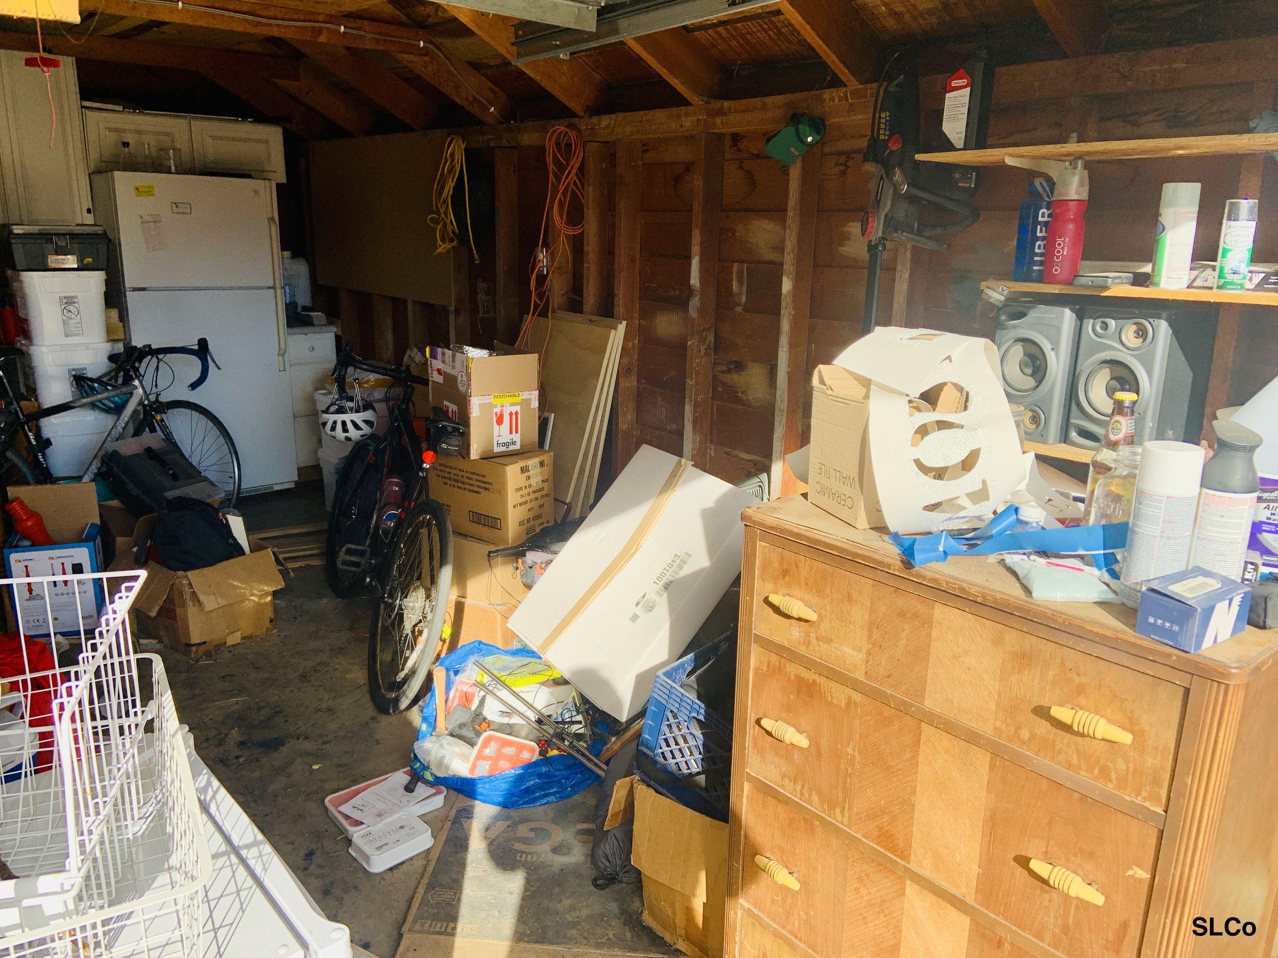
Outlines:
[[343, 461], [328, 516], [325, 574], [349, 599], [368, 588], [376, 607], [368, 627], [368, 694], [394, 715], [427, 690], [452, 584], [452, 526], [431, 498], [428, 473], [438, 455], [460, 455], [465, 427], [437, 410], [426, 420], [426, 448], [413, 428], [413, 391], [429, 379], [403, 367], [360, 359], [346, 344], [332, 370], [340, 404], [350, 402], [351, 370], [392, 381], [390, 422], [358, 439]]

